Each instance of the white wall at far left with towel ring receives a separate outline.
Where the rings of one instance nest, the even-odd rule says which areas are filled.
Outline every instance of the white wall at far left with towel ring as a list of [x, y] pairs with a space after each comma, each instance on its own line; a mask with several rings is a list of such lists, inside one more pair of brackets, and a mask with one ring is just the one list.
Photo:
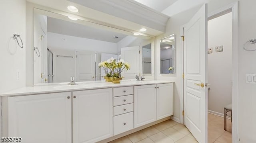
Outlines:
[[[0, 92], [6, 92], [26, 85], [26, 0], [0, 0], [0, 6]], [[23, 49], [13, 39], [14, 33], [21, 35]]]

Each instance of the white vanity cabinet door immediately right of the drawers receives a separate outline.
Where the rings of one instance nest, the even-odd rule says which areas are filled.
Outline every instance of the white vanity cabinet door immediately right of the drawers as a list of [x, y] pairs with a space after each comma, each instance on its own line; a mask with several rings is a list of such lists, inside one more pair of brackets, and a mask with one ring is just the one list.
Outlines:
[[134, 86], [134, 127], [156, 121], [156, 85]]

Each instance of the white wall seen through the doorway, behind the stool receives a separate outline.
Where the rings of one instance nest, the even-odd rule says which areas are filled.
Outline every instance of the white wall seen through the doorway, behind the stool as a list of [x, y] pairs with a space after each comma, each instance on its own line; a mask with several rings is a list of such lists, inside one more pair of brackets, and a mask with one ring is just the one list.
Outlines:
[[[223, 45], [223, 52], [215, 47]], [[232, 103], [232, 13], [208, 21], [208, 110], [224, 114], [224, 106]]]

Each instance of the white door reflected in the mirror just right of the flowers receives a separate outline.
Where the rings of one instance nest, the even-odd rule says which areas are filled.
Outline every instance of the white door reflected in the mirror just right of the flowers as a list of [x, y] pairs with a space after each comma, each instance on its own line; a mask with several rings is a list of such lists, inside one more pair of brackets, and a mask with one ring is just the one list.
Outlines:
[[130, 70], [123, 71], [122, 76], [125, 79], [135, 79], [136, 75], [140, 75], [140, 47], [124, 47], [121, 48], [121, 59], [130, 64]]

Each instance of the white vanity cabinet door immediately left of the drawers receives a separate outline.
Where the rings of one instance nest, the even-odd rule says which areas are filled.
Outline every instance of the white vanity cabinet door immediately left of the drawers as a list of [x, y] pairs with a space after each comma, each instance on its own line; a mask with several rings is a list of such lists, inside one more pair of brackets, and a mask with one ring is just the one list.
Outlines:
[[73, 143], [95, 143], [112, 135], [112, 88], [73, 92]]

